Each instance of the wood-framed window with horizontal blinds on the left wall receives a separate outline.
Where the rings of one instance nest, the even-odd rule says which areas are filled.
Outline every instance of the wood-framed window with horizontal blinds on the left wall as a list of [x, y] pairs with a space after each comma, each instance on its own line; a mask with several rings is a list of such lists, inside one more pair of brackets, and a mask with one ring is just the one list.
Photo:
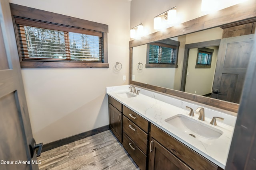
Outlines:
[[[13, 14], [22, 68], [109, 67], [108, 25], [46, 11], [40, 13], [42, 11], [36, 9], [27, 9], [26, 13], [24, 8], [28, 7], [11, 4], [13, 8], [14, 13], [17, 10], [22, 13], [21, 16]], [[52, 18], [58, 18], [58, 23], [52, 22]]]

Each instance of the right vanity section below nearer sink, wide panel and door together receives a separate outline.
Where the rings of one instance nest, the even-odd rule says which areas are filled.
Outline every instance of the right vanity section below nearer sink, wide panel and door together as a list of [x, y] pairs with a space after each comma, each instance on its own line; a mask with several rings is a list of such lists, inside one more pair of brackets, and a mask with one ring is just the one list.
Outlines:
[[[157, 170], [158, 167], [169, 169], [168, 167], [162, 167], [164, 164], [174, 167], [174, 170], [220, 170], [217, 165], [180, 143], [155, 125], [151, 125], [150, 135], [151, 140], [148, 144], [149, 146], [151, 145], [149, 147], [148, 161], [150, 170]], [[161, 165], [160, 162], [162, 162]]]

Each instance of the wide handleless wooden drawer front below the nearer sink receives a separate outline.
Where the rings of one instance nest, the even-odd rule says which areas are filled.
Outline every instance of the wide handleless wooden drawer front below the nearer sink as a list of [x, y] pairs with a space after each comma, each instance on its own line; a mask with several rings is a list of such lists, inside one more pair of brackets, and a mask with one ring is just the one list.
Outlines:
[[151, 136], [194, 170], [218, 170], [218, 166], [155, 125], [151, 125]]

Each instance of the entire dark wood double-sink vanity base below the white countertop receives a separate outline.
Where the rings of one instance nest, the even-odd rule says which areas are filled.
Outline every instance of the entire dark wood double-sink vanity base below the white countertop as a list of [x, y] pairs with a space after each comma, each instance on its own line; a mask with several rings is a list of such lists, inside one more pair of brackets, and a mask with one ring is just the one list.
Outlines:
[[109, 127], [141, 170], [222, 170], [108, 96]]

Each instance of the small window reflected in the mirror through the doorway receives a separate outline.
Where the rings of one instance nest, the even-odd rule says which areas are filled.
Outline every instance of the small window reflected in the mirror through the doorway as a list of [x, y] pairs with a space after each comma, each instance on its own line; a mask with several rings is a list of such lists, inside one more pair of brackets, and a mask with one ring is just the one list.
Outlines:
[[211, 68], [213, 49], [198, 48], [196, 68]]

